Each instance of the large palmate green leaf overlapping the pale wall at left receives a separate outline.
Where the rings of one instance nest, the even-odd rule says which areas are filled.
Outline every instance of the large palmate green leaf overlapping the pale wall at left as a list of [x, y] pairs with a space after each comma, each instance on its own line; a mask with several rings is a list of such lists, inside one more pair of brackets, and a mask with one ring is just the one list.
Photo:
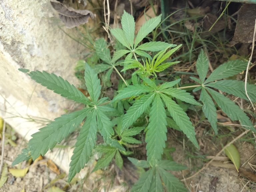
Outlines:
[[[22, 71], [29, 72], [29, 70], [24, 69]], [[115, 148], [115, 152], [117, 150], [125, 151], [124, 147], [117, 140], [111, 138], [114, 135], [113, 124], [106, 113], [112, 110], [112, 108], [102, 105], [108, 98], [99, 99], [101, 93], [100, 80], [88, 64], [86, 64], [84, 78], [92, 101], [85, 97], [74, 85], [70, 85], [68, 81], [55, 74], [45, 71], [31, 71], [29, 72], [29, 76], [37, 83], [53, 90], [55, 93], [82, 103], [87, 107], [62, 115], [56, 118], [55, 121], [47, 124], [46, 127], [39, 129], [39, 132], [32, 135], [27, 148], [22, 150], [22, 153], [14, 160], [13, 165], [28, 160], [31, 157], [35, 160], [40, 155], [45, 155], [49, 149], [53, 149], [57, 143], [60, 143], [64, 138], [69, 136], [85, 118], [86, 120], [77, 137], [74, 154], [71, 157], [68, 182], [88, 162], [96, 144], [96, 133], [98, 130], [104, 141], [109, 146]]]

